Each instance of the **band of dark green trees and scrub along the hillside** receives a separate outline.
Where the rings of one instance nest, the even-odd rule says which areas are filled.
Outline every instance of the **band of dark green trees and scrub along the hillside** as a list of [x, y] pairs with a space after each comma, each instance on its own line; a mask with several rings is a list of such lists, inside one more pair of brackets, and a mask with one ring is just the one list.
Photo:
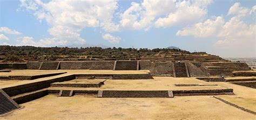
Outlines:
[[187, 51], [166, 48], [69, 48], [69, 47], [34, 47], [34, 46], [0, 46], [0, 59], [2, 62], [25, 62], [38, 60], [56, 60], [63, 58], [140, 58], [152, 57], [159, 52], [181, 52], [191, 54]]

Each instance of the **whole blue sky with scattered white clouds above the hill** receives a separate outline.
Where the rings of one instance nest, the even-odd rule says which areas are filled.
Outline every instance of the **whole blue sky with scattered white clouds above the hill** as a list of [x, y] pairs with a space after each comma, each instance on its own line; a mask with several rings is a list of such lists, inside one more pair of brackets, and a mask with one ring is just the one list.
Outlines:
[[0, 45], [166, 48], [256, 57], [253, 0], [0, 0]]

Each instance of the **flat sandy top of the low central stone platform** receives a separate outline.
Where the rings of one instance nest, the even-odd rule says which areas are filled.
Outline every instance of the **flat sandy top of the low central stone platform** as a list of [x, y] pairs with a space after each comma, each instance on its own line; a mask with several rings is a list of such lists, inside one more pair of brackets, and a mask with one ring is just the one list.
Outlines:
[[185, 77], [154, 77], [152, 80], [106, 80], [100, 87], [102, 90], [197, 90], [197, 89], [226, 89], [223, 86], [184, 86], [175, 84], [215, 84], [195, 78]]

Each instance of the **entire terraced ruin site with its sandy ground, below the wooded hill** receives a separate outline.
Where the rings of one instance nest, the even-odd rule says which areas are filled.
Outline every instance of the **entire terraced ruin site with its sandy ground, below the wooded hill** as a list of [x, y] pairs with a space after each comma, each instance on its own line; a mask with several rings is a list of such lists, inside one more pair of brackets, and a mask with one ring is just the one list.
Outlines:
[[0, 68], [0, 119], [256, 118], [256, 72], [210, 54]]

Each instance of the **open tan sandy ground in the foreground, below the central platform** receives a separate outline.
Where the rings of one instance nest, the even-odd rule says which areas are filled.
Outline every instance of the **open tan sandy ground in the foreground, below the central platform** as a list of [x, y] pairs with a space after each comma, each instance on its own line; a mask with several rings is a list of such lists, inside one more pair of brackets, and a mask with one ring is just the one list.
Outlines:
[[97, 98], [48, 95], [0, 119], [256, 119], [210, 96]]

